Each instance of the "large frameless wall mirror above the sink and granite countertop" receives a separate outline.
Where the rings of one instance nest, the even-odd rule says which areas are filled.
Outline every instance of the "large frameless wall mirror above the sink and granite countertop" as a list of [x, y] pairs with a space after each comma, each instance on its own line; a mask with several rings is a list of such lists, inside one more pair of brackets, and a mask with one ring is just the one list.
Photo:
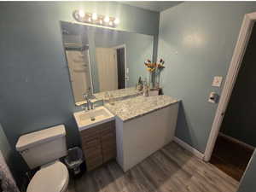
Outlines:
[[88, 91], [135, 87], [148, 77], [143, 63], [152, 60], [153, 36], [65, 21], [61, 31], [76, 103]]

